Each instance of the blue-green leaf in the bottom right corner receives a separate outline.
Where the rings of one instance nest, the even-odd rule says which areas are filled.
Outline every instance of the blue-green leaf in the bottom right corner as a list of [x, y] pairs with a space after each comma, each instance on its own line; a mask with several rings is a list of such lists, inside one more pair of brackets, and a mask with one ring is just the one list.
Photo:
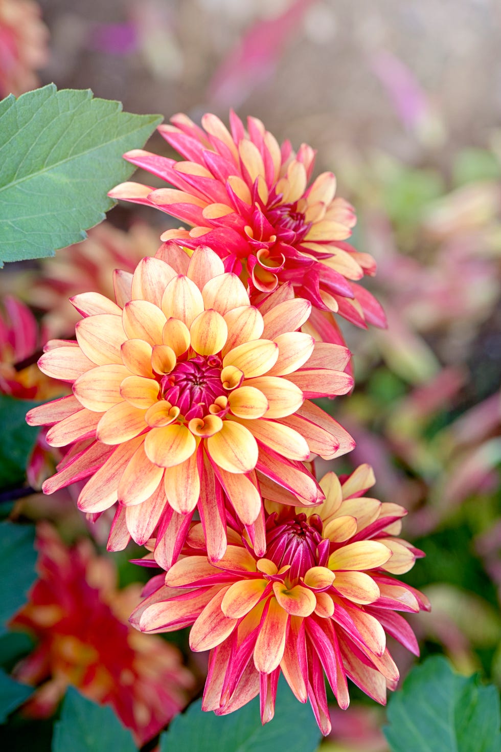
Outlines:
[[388, 705], [392, 752], [499, 752], [499, 693], [464, 677], [443, 656], [409, 674]]

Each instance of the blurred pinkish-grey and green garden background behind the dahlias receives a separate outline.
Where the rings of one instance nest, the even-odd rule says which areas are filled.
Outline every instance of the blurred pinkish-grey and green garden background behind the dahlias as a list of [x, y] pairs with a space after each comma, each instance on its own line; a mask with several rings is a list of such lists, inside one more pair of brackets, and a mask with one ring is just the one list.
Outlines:
[[[406, 537], [427, 558], [407, 581], [433, 603], [432, 614], [414, 620], [424, 654], [443, 652], [457, 669], [501, 683], [499, 2], [40, 5], [50, 31], [42, 83], [90, 87], [128, 111], [166, 119], [184, 111], [198, 120], [212, 111], [227, 121], [232, 107], [240, 117], [261, 118], [280, 141], [311, 144], [317, 173], [337, 175], [340, 195], [358, 213], [354, 244], [378, 262], [370, 287], [390, 326], [344, 328], [357, 384], [329, 409], [358, 447], [334, 469], [370, 462], [375, 496], [409, 509]], [[174, 156], [160, 137], [149, 148]], [[152, 229], [138, 227], [138, 216]], [[138, 257], [152, 252], [170, 222], [130, 206], [114, 209], [108, 221], [122, 230], [134, 225], [127, 247], [135, 250], [124, 251], [127, 243], [116, 238], [117, 253]], [[114, 241], [102, 240], [101, 261], [101, 240], [89, 253], [107, 268]], [[63, 258], [74, 284], [77, 256]], [[119, 265], [113, 259], [110, 268]], [[51, 263], [42, 262], [44, 274], [60, 280], [61, 266], [50, 271]], [[64, 328], [69, 306], [57, 308], [54, 284], [38, 281], [35, 290], [39, 271], [8, 274], [38, 312], [51, 309], [52, 329]], [[36, 505], [23, 504], [20, 514], [33, 514]], [[126, 568], [124, 558], [128, 580]], [[409, 656], [395, 652], [405, 674]], [[382, 752], [384, 711], [356, 691], [353, 697], [349, 711], [333, 710], [324, 749]]]

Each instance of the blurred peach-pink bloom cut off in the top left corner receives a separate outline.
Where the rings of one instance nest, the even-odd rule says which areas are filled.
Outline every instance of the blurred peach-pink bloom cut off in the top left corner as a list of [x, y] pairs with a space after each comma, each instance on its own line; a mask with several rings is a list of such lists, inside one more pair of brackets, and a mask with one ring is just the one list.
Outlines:
[[0, 0], [0, 99], [38, 86], [36, 68], [47, 62], [49, 32], [32, 0]]

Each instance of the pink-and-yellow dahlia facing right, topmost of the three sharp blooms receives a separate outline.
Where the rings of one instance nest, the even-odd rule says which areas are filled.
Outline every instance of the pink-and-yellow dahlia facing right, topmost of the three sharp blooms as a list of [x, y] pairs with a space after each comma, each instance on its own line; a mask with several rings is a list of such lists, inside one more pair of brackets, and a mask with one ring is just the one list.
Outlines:
[[[199, 128], [186, 115], [159, 126], [161, 135], [186, 161], [142, 149], [125, 159], [176, 186], [154, 190], [121, 183], [110, 196], [155, 206], [192, 226], [164, 232], [163, 240], [182, 238], [195, 248], [207, 244], [249, 284], [252, 302], [291, 282], [297, 296], [320, 311], [339, 312], [358, 326], [385, 326], [382, 308], [355, 280], [374, 274], [367, 253], [346, 243], [356, 223], [355, 211], [335, 198], [331, 172], [312, 176], [315, 151], [289, 141], [279, 146], [255, 117], [248, 131], [231, 111], [231, 133], [216, 115], [206, 114]], [[315, 312], [312, 323], [321, 316]], [[323, 329], [326, 329], [324, 324]], [[330, 323], [324, 339], [341, 341]]]

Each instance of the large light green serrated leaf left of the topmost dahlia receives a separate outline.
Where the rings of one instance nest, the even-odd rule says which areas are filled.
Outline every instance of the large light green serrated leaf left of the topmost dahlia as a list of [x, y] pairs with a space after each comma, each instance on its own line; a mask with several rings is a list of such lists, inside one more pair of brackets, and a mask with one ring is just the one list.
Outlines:
[[135, 169], [122, 154], [160, 122], [53, 83], [0, 102], [0, 265], [86, 238], [115, 204], [107, 192]]

